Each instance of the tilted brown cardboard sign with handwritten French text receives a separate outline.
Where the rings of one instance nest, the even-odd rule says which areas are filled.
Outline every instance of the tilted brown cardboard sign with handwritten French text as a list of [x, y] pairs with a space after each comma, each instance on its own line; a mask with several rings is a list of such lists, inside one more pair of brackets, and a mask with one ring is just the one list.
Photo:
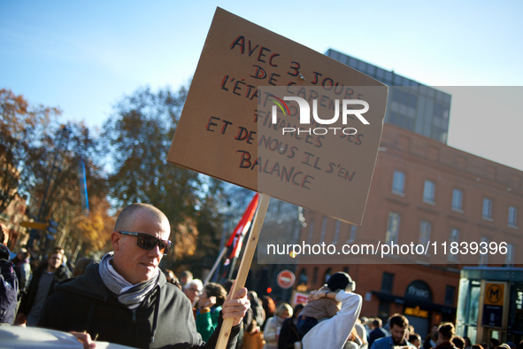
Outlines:
[[[267, 98], [273, 87], [310, 103], [311, 123], [301, 123], [296, 98]], [[387, 93], [381, 82], [218, 8], [167, 160], [358, 224]], [[350, 110], [365, 109], [361, 101], [368, 111], [359, 118]], [[274, 119], [273, 105], [281, 106]], [[305, 133], [283, 134], [286, 126]]]

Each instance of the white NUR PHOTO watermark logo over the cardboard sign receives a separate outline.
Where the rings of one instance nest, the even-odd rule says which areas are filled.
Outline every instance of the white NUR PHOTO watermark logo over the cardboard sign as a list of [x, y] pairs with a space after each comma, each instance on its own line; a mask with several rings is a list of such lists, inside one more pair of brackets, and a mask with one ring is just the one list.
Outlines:
[[[274, 105], [272, 105], [272, 123], [277, 124], [278, 121], [278, 109], [283, 112], [283, 115], [290, 114], [290, 109], [285, 103], [285, 101], [294, 101], [298, 105], [298, 112], [299, 112], [299, 123], [301, 126], [304, 126], [305, 128], [281, 128], [281, 132], [283, 135], [286, 133], [295, 133], [301, 134], [306, 133], [311, 135], [327, 135], [327, 133], [331, 132], [336, 134], [337, 132], [342, 133], [344, 135], [355, 135], [358, 130], [356, 128], [346, 128], [346, 127], [317, 127], [317, 128], [306, 128], [307, 126], [311, 125], [311, 115], [312, 120], [314, 120], [319, 125], [333, 125], [340, 117], [342, 118], [342, 125], [346, 126], [348, 125], [349, 120], [354, 120], [354, 118], [357, 118], [359, 121], [361, 121], [364, 125], [370, 125], [369, 121], [365, 119], [363, 114], [365, 112], [368, 112], [369, 110], [369, 104], [365, 102], [364, 100], [359, 99], [335, 99], [333, 100], [334, 103], [332, 105], [334, 106], [334, 115], [332, 117], [328, 116], [327, 119], [323, 119], [319, 116], [318, 112], [318, 100], [312, 99], [312, 108], [311, 105], [309, 105], [309, 102], [301, 97], [283, 97], [283, 99], [275, 96], [271, 96], [268, 98], [268, 100], [272, 101]], [[362, 106], [363, 108], [353, 109], [355, 106]], [[340, 111], [341, 109], [341, 111]]]

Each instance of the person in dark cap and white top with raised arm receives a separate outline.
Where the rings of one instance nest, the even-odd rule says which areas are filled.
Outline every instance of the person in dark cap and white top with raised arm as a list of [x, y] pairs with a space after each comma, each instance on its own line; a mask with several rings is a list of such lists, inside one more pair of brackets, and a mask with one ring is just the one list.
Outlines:
[[[343, 272], [331, 275], [319, 291], [311, 292], [311, 301], [304, 307], [298, 321], [298, 332], [300, 321], [303, 332], [302, 347], [304, 349], [316, 348], [342, 348], [350, 337], [361, 311], [363, 299], [357, 293], [356, 283], [350, 275]], [[321, 302], [318, 302], [321, 300]], [[323, 307], [321, 304], [323, 303]], [[335, 305], [332, 307], [332, 304]], [[307, 308], [310, 308], [307, 310]], [[306, 311], [307, 310], [307, 311]], [[330, 313], [329, 313], [330, 312]], [[329, 314], [335, 313], [329, 317]], [[326, 315], [327, 316], [324, 316]], [[307, 316], [304, 318], [303, 315]], [[313, 320], [316, 324], [311, 326]], [[310, 328], [307, 330], [306, 327]]]

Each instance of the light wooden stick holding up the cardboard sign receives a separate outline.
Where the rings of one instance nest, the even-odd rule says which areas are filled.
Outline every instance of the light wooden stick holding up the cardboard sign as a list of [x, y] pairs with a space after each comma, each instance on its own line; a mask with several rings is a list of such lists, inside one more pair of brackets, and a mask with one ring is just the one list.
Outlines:
[[[231, 291], [229, 291], [229, 294], [231, 295], [234, 295], [245, 285], [247, 275], [249, 274], [250, 263], [252, 262], [254, 252], [256, 251], [256, 245], [258, 244], [259, 232], [264, 225], [265, 213], [267, 213], [267, 206], [269, 206], [270, 200], [270, 196], [266, 194], [260, 194], [258, 211], [254, 216], [252, 229], [250, 229], [249, 241], [247, 241], [247, 244], [245, 245], [245, 251], [243, 252], [242, 262], [240, 263], [240, 268], [238, 269], [238, 275], [236, 276], [235, 283], [233, 283], [233, 287], [231, 287]], [[216, 349], [225, 349], [227, 346], [227, 340], [231, 334], [234, 321], [235, 319], [231, 318], [225, 319], [222, 322], [221, 330], [219, 330]]]

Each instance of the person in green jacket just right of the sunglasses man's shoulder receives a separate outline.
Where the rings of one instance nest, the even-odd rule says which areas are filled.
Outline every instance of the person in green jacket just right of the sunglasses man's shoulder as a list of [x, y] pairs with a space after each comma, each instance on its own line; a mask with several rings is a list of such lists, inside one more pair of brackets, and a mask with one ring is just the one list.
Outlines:
[[227, 291], [219, 283], [207, 283], [198, 300], [196, 312], [196, 330], [205, 342], [218, 326], [218, 315], [227, 298]]

